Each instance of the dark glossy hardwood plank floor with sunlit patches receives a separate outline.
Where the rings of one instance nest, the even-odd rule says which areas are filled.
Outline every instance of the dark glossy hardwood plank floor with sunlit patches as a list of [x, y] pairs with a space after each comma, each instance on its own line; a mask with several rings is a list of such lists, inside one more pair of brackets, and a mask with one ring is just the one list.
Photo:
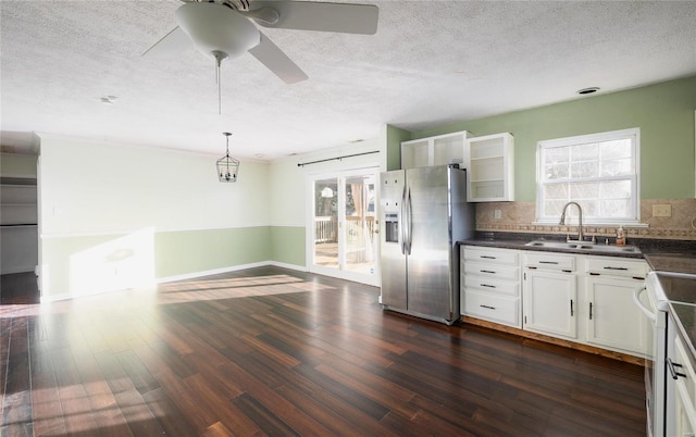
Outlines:
[[3, 436], [641, 436], [643, 369], [261, 267], [0, 307]]

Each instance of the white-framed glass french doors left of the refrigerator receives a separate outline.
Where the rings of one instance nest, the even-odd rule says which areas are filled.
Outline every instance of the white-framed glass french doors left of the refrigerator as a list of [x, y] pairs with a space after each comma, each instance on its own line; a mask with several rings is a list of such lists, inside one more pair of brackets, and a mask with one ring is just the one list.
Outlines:
[[377, 167], [310, 177], [310, 272], [380, 285]]

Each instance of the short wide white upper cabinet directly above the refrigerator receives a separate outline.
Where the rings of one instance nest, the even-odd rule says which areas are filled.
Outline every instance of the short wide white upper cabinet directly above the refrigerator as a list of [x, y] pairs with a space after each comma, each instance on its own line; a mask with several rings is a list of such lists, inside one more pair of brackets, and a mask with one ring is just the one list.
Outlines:
[[401, 142], [401, 168], [460, 164], [467, 167], [467, 132]]

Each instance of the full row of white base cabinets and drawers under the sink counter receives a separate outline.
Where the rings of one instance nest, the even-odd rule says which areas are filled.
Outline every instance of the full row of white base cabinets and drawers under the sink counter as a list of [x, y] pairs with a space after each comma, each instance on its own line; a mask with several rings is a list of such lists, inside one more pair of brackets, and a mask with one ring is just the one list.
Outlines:
[[461, 248], [461, 313], [568, 341], [645, 357], [647, 319], [633, 291], [644, 260]]

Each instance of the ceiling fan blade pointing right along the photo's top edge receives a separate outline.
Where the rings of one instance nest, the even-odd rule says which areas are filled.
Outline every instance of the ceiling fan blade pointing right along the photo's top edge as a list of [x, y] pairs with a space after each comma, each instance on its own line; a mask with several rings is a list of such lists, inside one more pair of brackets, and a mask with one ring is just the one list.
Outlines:
[[[374, 35], [380, 15], [374, 4], [260, 0], [252, 2], [251, 8], [246, 15], [264, 27], [345, 34]], [[268, 9], [277, 12], [277, 21], [274, 22], [274, 14], [269, 13]]]

